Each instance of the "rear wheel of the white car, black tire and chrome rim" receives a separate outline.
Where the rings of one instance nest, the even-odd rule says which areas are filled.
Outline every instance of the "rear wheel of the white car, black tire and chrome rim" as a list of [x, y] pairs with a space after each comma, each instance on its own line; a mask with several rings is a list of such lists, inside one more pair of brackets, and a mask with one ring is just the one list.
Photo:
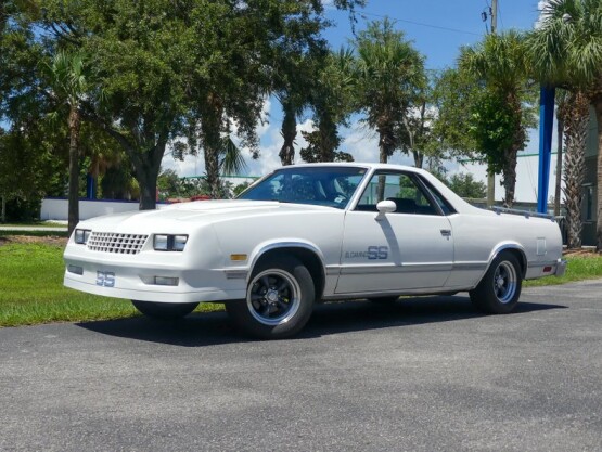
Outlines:
[[507, 314], [518, 304], [523, 280], [521, 264], [508, 251], [497, 256], [478, 285], [470, 292], [471, 301], [489, 314]]

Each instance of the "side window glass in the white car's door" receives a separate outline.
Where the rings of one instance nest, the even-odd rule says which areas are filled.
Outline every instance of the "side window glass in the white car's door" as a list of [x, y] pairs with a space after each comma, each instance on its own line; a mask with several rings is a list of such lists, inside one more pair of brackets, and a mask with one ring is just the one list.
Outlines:
[[397, 214], [438, 215], [437, 208], [417, 182], [406, 173], [376, 172], [356, 207], [356, 210], [376, 211], [383, 199], [395, 203]]

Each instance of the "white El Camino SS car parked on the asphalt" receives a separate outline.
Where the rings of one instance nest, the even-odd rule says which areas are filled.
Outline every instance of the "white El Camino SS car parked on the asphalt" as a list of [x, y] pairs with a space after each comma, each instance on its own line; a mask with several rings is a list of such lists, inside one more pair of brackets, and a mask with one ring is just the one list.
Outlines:
[[236, 199], [80, 222], [64, 284], [163, 319], [226, 301], [261, 338], [299, 332], [318, 300], [469, 290], [481, 310], [507, 313], [523, 280], [565, 271], [559, 225], [541, 217], [473, 207], [417, 168], [295, 165]]

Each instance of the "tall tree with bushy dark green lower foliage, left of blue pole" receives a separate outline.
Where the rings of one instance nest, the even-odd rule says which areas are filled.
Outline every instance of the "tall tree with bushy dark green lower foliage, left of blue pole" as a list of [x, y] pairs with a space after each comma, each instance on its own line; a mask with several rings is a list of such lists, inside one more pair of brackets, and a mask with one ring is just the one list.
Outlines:
[[528, 108], [534, 92], [525, 36], [513, 30], [488, 35], [476, 46], [463, 48], [459, 64], [486, 88], [472, 115], [473, 137], [488, 170], [502, 173], [504, 204], [512, 206], [516, 156], [527, 143], [526, 129], [535, 125], [534, 111]]

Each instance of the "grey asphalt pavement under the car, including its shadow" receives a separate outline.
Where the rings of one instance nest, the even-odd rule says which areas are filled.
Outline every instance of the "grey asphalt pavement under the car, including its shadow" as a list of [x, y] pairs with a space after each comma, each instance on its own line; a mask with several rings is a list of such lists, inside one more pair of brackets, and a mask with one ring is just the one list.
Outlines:
[[602, 281], [319, 306], [295, 339], [226, 314], [0, 330], [1, 451], [602, 451]]

